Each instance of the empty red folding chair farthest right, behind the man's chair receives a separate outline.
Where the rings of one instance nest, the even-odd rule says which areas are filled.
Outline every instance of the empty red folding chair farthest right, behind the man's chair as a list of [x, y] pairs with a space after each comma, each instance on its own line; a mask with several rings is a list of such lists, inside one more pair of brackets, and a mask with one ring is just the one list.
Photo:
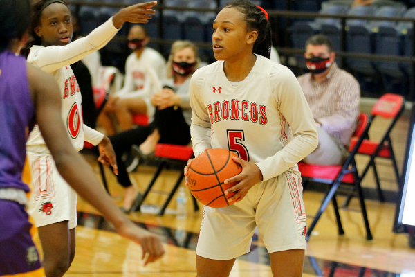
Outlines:
[[[365, 178], [369, 168], [373, 168], [374, 177], [376, 180], [376, 190], [378, 191], [380, 202], [385, 201], [383, 196], [382, 189], [380, 188], [380, 179], [378, 176], [378, 170], [376, 169], [376, 158], [390, 159], [392, 161], [392, 166], [394, 168], [394, 173], [398, 186], [400, 184], [400, 174], [398, 170], [398, 165], [396, 163], [396, 158], [394, 154], [394, 149], [392, 148], [391, 141], [391, 130], [394, 128], [396, 122], [400, 118], [405, 109], [405, 100], [402, 96], [396, 94], [387, 93], [384, 96], [380, 97], [379, 100], [374, 105], [371, 111], [371, 120], [374, 120], [376, 116], [381, 116], [385, 119], [391, 119], [391, 123], [387, 127], [385, 134], [379, 142], [370, 141], [365, 139], [362, 142], [362, 145], [358, 149], [358, 154], [364, 154], [370, 157], [369, 162], [367, 163], [365, 169], [362, 171], [360, 178]], [[351, 147], [356, 144], [357, 139], [354, 138], [351, 140]], [[344, 202], [344, 206], [347, 206], [350, 202], [350, 199], [353, 195], [349, 195], [347, 200]]]

